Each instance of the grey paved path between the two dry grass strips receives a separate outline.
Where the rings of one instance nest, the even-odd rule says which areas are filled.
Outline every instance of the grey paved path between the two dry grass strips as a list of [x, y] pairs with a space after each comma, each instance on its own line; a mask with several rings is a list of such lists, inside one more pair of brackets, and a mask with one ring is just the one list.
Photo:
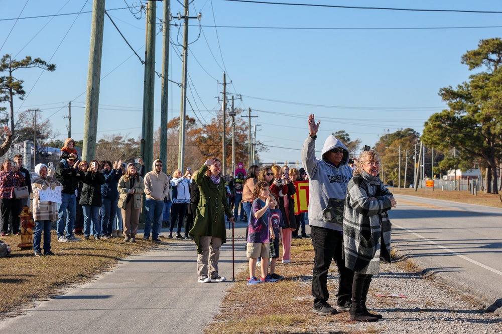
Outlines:
[[[236, 223], [235, 272], [245, 266], [245, 224]], [[167, 233], [164, 233], [167, 235]], [[198, 283], [191, 240], [170, 240], [120, 263], [97, 279], [0, 322], [0, 333], [200, 333], [232, 284], [232, 243], [221, 248], [228, 281]]]

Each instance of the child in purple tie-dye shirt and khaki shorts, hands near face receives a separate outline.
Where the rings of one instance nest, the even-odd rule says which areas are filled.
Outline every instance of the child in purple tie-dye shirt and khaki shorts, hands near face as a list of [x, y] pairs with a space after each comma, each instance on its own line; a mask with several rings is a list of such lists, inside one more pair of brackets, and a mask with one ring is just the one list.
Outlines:
[[[249, 215], [249, 231], [247, 234], [246, 256], [249, 258], [249, 277], [247, 284], [275, 282], [277, 279], [267, 274], [270, 257], [270, 238], [275, 239], [272, 221], [270, 219], [270, 189], [267, 182], [258, 182], [253, 191], [253, 204]], [[256, 277], [256, 262], [261, 261], [262, 275]]]

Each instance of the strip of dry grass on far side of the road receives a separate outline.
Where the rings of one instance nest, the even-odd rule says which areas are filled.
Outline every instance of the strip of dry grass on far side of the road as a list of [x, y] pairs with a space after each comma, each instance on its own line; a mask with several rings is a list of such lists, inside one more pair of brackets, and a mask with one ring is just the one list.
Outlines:
[[441, 189], [436, 189], [432, 191], [432, 189], [427, 189], [427, 194], [425, 189], [415, 189], [410, 188], [390, 188], [393, 194], [399, 195], [411, 195], [411, 196], [419, 196], [419, 197], [427, 197], [433, 199], [443, 199], [447, 201], [467, 203], [467, 204], [477, 204], [477, 205], [485, 205], [491, 206], [495, 208], [502, 207], [502, 202], [498, 197], [498, 194], [484, 194], [479, 191], [477, 196], [471, 195], [468, 191], [441, 191]]

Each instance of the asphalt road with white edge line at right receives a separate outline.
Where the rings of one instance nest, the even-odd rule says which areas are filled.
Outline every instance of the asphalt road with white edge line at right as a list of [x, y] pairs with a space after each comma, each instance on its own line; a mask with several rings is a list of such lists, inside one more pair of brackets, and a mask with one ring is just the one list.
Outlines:
[[502, 315], [502, 209], [396, 195], [393, 246]]

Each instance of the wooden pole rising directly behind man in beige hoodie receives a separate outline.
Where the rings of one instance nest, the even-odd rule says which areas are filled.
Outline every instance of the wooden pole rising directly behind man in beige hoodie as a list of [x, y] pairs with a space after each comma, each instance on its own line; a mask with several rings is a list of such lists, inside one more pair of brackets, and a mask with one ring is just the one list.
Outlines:
[[169, 102], [169, 32], [170, 32], [170, 3], [164, 0], [164, 39], [162, 43], [162, 78], [161, 78], [161, 103], [160, 103], [160, 160], [163, 162], [163, 170], [167, 173], [167, 109]]

